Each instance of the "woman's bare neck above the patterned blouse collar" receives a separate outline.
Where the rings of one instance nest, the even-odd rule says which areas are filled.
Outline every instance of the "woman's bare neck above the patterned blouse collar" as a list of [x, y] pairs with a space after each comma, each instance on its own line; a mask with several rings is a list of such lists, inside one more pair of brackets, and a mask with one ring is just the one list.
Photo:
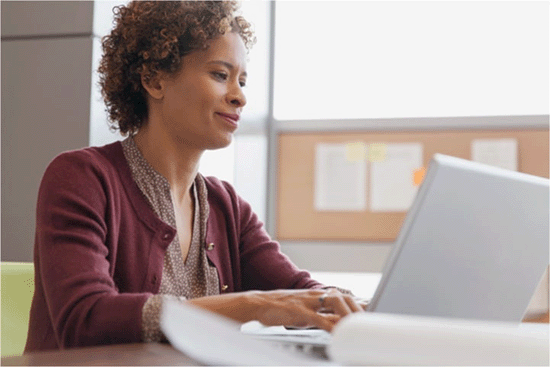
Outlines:
[[163, 135], [162, 130], [146, 124], [134, 136], [134, 141], [147, 162], [168, 181], [173, 200], [182, 204], [191, 198], [191, 186], [203, 151]]

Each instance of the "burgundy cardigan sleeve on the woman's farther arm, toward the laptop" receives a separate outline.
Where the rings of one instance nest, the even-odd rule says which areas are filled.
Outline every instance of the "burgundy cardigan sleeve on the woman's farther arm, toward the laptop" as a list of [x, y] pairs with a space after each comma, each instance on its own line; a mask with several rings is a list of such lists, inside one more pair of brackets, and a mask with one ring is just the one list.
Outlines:
[[271, 239], [250, 204], [237, 195], [231, 185], [226, 182], [224, 185], [232, 197], [237, 217], [243, 290], [323, 287], [281, 252], [279, 243]]

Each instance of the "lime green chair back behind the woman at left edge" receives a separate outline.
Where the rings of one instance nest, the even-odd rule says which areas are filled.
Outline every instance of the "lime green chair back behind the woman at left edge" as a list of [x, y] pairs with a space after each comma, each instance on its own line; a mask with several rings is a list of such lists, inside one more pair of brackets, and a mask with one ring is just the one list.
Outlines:
[[34, 294], [34, 264], [2, 262], [0, 274], [0, 353], [2, 357], [17, 356], [23, 353], [27, 340], [29, 311]]

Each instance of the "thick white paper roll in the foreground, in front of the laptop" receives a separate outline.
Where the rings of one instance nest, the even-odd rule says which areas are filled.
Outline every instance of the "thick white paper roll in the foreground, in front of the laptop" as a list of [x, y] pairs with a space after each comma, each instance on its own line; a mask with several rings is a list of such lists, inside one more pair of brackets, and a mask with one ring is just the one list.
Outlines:
[[336, 325], [328, 354], [356, 366], [548, 366], [548, 341], [548, 324], [362, 312]]

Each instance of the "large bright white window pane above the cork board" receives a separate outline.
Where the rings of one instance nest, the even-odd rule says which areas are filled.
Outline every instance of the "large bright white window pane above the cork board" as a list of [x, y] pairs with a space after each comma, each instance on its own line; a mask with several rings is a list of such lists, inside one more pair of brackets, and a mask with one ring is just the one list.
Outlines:
[[547, 2], [277, 2], [275, 118], [548, 114]]

